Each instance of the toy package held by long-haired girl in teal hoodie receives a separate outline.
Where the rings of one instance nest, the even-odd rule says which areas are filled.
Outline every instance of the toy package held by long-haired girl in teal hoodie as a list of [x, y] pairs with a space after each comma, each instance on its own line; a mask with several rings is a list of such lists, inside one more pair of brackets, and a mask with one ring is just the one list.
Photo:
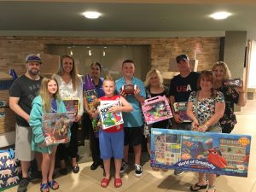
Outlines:
[[73, 112], [68, 113], [44, 113], [42, 117], [42, 129], [45, 145], [56, 143], [68, 143], [67, 131], [75, 119]]

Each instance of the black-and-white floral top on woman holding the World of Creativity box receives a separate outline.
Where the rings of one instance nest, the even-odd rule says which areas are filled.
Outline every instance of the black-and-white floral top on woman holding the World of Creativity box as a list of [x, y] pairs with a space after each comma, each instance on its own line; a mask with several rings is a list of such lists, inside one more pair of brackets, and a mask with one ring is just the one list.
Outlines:
[[[196, 99], [197, 91], [190, 93], [189, 102], [193, 103], [193, 113], [197, 117], [199, 123], [202, 125], [211, 119], [212, 115], [215, 113], [215, 103], [224, 102], [224, 95], [220, 91], [215, 91], [213, 96], [209, 96], [203, 101]], [[197, 113], [195, 113], [195, 101], [197, 100]]]

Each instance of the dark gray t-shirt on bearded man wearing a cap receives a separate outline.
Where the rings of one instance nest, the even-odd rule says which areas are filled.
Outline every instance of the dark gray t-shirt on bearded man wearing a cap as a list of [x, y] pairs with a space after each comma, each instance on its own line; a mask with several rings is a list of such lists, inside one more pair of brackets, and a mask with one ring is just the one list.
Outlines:
[[[42, 77], [38, 80], [32, 80], [22, 75], [20, 78], [16, 79], [9, 89], [9, 96], [20, 97], [19, 106], [26, 113], [30, 114], [32, 109], [32, 101], [38, 96], [38, 90], [42, 81]], [[23, 119], [16, 114], [17, 124], [20, 126], [29, 126], [26, 119]]]

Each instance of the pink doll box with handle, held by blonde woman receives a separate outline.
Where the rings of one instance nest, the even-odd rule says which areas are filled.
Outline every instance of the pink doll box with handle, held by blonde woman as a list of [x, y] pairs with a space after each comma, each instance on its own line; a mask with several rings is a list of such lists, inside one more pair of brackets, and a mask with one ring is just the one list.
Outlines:
[[166, 96], [154, 96], [146, 99], [142, 108], [147, 125], [172, 118], [172, 111]]

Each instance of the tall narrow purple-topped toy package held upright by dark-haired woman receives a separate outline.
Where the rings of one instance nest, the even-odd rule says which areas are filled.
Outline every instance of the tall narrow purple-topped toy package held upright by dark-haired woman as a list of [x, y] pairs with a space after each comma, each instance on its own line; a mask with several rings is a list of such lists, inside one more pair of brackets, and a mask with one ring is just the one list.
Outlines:
[[[86, 97], [86, 101], [88, 102], [88, 108], [95, 112], [97, 107], [99, 106], [100, 102], [96, 96], [96, 88], [93, 84], [90, 75], [84, 75], [84, 96]], [[95, 132], [96, 136], [100, 129], [99, 123], [100, 117], [98, 116], [96, 119], [91, 119], [91, 124], [93, 131]]]

